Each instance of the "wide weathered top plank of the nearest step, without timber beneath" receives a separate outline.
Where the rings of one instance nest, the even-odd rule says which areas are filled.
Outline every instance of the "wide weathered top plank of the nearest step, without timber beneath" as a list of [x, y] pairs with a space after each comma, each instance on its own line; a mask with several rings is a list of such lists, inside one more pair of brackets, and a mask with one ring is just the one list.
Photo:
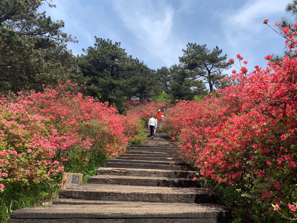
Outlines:
[[128, 219], [128, 218], [226, 218], [229, 211], [222, 208], [183, 205], [50, 205], [49, 207], [23, 208], [11, 213], [11, 219]]

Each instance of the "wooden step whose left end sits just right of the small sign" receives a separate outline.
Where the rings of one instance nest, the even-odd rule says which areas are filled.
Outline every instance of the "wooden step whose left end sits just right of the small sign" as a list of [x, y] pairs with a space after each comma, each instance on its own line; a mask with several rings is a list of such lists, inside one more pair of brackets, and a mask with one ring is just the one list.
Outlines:
[[154, 187], [200, 187], [200, 183], [193, 179], [116, 175], [88, 177], [89, 183]]

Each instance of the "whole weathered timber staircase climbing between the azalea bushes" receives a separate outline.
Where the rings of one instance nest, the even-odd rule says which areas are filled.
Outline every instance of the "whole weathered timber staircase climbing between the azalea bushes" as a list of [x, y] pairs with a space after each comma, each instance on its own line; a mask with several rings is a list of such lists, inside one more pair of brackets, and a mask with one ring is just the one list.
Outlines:
[[61, 190], [49, 207], [23, 208], [8, 223], [214, 223], [229, 222], [218, 194], [200, 187], [158, 123], [156, 136], [106, 161], [88, 183]]

